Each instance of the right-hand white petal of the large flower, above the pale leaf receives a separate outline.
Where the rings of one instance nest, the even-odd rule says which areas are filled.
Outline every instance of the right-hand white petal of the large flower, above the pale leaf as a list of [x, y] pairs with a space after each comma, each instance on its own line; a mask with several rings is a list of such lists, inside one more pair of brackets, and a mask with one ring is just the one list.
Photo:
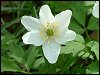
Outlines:
[[65, 34], [63, 34], [63, 31], [59, 34], [59, 37], [56, 37], [55, 40], [59, 44], [64, 44], [67, 41], [72, 41], [76, 38], [76, 33], [72, 30], [67, 30]]

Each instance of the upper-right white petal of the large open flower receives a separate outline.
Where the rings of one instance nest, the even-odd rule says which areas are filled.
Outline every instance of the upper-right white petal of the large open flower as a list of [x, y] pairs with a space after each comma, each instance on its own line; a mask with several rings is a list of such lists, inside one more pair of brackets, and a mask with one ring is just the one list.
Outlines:
[[65, 28], [69, 26], [71, 16], [72, 16], [72, 12], [70, 10], [66, 10], [57, 14], [55, 16], [55, 20], [56, 22], [58, 22], [60, 27]]

